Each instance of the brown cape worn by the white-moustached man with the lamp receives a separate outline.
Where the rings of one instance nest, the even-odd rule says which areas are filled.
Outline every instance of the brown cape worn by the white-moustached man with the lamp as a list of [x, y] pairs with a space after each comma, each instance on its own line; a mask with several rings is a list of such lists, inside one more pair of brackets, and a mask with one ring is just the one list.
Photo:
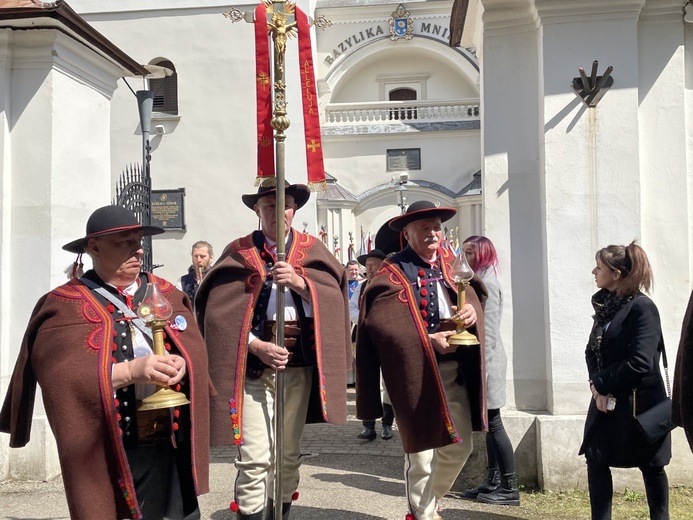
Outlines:
[[[443, 276], [451, 287], [450, 254], [443, 251]], [[473, 283], [485, 295], [483, 282]], [[478, 285], [477, 285], [478, 284]], [[481, 345], [459, 347], [475, 431], [488, 429], [484, 369], [484, 314], [472, 285], [465, 292], [477, 323], [469, 331]], [[483, 297], [483, 296], [482, 296]], [[453, 302], [454, 305], [457, 302]], [[453, 424], [440, 379], [435, 351], [423, 324], [412, 284], [404, 272], [385, 260], [362, 300], [356, 340], [356, 414], [359, 419], [382, 417], [380, 371], [397, 419], [406, 453], [440, 448], [461, 439]]]

